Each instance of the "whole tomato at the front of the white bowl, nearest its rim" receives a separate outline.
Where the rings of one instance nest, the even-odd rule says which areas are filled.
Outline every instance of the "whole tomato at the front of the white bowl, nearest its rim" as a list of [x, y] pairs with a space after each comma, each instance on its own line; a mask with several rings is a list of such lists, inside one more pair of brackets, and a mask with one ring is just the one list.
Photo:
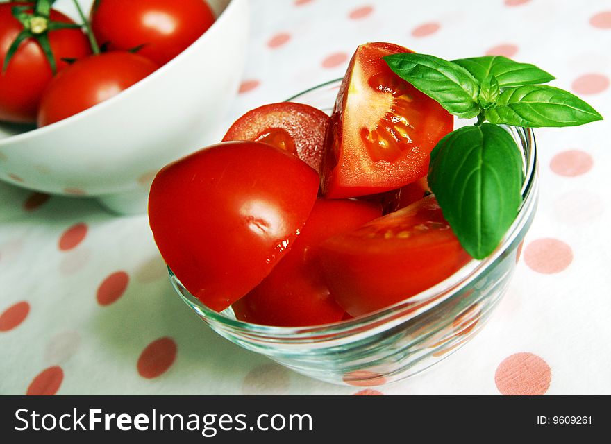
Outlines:
[[106, 101], [157, 68], [151, 60], [123, 51], [78, 60], [53, 78], [44, 92], [38, 126], [50, 125]]

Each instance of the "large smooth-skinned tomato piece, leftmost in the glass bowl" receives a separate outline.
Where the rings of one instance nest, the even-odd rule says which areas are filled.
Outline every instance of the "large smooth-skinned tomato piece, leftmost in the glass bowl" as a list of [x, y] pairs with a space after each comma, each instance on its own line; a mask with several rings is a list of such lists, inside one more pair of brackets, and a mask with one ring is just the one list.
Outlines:
[[308, 219], [317, 173], [259, 142], [224, 142], [163, 168], [149, 221], [165, 262], [194, 296], [221, 311], [256, 287]]

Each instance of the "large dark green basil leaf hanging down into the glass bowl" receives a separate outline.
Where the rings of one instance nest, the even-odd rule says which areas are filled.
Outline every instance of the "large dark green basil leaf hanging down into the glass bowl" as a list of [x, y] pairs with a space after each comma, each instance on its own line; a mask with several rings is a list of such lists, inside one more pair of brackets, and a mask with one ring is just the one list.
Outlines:
[[467, 253], [483, 259], [517, 216], [524, 182], [516, 142], [501, 126], [464, 126], [431, 153], [428, 185]]

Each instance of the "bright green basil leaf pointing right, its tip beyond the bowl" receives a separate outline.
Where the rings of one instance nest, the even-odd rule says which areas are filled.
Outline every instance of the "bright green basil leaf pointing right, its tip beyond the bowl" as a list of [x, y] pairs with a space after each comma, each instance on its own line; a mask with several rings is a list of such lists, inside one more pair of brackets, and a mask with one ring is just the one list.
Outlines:
[[570, 92], [546, 85], [506, 88], [485, 111], [491, 123], [513, 126], [576, 126], [602, 120], [601, 114]]

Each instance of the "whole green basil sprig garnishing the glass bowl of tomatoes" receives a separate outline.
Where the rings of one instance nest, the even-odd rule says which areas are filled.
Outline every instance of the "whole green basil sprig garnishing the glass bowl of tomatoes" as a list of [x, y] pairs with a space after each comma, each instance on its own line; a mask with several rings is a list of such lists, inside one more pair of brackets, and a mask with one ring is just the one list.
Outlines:
[[459, 128], [437, 143], [428, 170], [428, 184], [444, 216], [476, 259], [499, 246], [522, 200], [521, 154], [514, 138], [499, 125], [576, 126], [603, 119], [574, 94], [541, 85], [554, 79], [551, 74], [503, 56], [449, 62], [401, 53], [384, 60], [451, 114], [478, 118], [474, 126]]

